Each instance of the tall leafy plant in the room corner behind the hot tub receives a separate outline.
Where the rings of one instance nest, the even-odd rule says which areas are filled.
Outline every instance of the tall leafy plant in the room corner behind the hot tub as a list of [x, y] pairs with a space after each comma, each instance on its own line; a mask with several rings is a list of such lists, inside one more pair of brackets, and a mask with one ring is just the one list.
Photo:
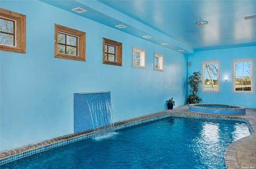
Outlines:
[[198, 87], [201, 84], [201, 73], [193, 72], [193, 75], [190, 75], [190, 77], [188, 78], [188, 85], [190, 86], [190, 94], [188, 95], [187, 98], [188, 104], [200, 103], [202, 101], [202, 99], [196, 95], [198, 92]]

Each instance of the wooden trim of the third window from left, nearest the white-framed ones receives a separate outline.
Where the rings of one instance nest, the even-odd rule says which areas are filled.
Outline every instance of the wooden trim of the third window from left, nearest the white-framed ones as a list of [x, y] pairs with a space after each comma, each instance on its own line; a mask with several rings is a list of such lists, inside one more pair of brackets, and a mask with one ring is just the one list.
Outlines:
[[[116, 66], [122, 66], [122, 43], [118, 41], [102, 38], [102, 63]], [[116, 47], [116, 62], [105, 61], [105, 44]]]

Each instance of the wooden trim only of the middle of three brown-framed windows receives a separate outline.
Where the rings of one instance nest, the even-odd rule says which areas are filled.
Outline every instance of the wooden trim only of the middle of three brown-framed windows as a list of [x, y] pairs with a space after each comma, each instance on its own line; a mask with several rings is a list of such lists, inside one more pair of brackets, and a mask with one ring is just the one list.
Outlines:
[[[85, 36], [86, 33], [83, 31], [79, 31], [76, 29], [60, 26], [59, 24], [54, 25], [55, 33], [55, 43], [54, 43], [54, 56], [57, 58], [64, 58], [68, 60], [76, 60], [76, 61], [85, 61]], [[74, 55], [67, 55], [67, 54], [60, 54], [58, 53], [58, 33], [66, 33], [71, 36], [78, 37], [77, 40], [77, 56]]]

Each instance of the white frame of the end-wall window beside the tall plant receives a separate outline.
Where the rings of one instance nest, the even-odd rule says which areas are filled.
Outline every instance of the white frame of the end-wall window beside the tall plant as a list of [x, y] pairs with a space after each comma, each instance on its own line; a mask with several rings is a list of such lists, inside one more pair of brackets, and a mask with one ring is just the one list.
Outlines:
[[[211, 63], [211, 64], [218, 63], [218, 74], [217, 74], [218, 90], [205, 90], [204, 89], [204, 77], [205, 77], [204, 66], [205, 66], [205, 64], [209, 64], [209, 63]], [[212, 92], [212, 93], [220, 92], [220, 61], [202, 62], [202, 92]]]

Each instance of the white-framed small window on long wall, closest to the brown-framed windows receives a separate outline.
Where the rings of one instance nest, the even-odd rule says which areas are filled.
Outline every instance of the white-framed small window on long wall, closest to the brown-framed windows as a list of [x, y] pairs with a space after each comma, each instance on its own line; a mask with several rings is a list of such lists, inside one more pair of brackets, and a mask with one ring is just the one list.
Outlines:
[[145, 50], [133, 47], [133, 67], [145, 68]]

